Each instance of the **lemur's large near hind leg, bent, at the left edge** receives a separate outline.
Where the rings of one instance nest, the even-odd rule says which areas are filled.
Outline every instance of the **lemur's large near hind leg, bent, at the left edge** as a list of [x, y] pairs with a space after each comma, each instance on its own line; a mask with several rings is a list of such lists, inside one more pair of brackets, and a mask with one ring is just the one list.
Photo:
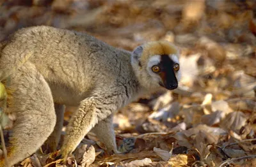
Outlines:
[[24, 64], [10, 81], [13, 105], [7, 110], [16, 115], [16, 120], [7, 147], [8, 165], [1, 157], [1, 167], [10, 167], [31, 156], [47, 140], [56, 124], [51, 90], [33, 64]]

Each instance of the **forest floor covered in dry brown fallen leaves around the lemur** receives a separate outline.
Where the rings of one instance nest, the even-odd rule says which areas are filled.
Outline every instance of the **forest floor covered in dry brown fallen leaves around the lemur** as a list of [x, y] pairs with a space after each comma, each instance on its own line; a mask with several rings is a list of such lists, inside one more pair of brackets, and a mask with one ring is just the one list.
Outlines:
[[[0, 41], [22, 27], [51, 25], [126, 50], [154, 40], [181, 50], [179, 89], [116, 113], [116, 143], [127, 154], [108, 154], [88, 133], [67, 164], [54, 161], [56, 152], [20, 164], [256, 166], [255, 17], [256, 2], [247, 0], [0, 0]], [[73, 110], [67, 106], [65, 126]]]

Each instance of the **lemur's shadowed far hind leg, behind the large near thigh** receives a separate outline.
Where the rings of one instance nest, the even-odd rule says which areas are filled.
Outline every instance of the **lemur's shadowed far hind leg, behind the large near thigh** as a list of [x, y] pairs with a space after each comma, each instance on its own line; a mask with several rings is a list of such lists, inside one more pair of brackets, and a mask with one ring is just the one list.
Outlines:
[[54, 109], [57, 117], [56, 125], [54, 127], [54, 131], [52, 134], [47, 138], [45, 142], [45, 148], [46, 152], [54, 152], [57, 150], [58, 143], [60, 142], [60, 136], [61, 136], [61, 130], [63, 127], [63, 119], [64, 119], [64, 112], [65, 112], [65, 106], [54, 104]]

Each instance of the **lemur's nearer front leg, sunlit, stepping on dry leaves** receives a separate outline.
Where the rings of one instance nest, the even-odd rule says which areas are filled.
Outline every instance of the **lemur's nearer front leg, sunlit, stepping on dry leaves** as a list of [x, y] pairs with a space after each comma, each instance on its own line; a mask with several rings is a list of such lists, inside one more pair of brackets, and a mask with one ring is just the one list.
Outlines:
[[[79, 108], [72, 115], [68, 124], [67, 134], [64, 138], [63, 146], [61, 147], [60, 152], [62, 157], [65, 158], [69, 156], [69, 154], [76, 149], [81, 140], [83, 140], [84, 136], [96, 124], [108, 118], [109, 115], [117, 110], [118, 104], [116, 103], [116, 98], [118, 97], [112, 96], [111, 98], [99, 98], [99, 96], [92, 96], [81, 101]], [[109, 124], [107, 125], [109, 126]], [[102, 123], [100, 123], [99, 126], [102, 126]], [[111, 134], [114, 136], [111, 136], [109, 139], [106, 138], [106, 140], [113, 140], [113, 138], [115, 138], [115, 133], [111, 132]], [[106, 140], [104, 140], [104, 142], [106, 142]], [[110, 143], [111, 145], [114, 145], [115, 141]], [[114, 146], [112, 150], [116, 150], [116, 146]]]

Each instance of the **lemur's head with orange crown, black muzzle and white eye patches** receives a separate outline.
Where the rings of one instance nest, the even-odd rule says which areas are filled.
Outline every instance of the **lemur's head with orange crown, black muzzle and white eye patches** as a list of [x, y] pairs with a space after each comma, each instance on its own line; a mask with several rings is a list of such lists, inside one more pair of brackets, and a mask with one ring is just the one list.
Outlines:
[[180, 79], [179, 51], [168, 41], [152, 41], [132, 52], [132, 68], [146, 89], [173, 90]]

